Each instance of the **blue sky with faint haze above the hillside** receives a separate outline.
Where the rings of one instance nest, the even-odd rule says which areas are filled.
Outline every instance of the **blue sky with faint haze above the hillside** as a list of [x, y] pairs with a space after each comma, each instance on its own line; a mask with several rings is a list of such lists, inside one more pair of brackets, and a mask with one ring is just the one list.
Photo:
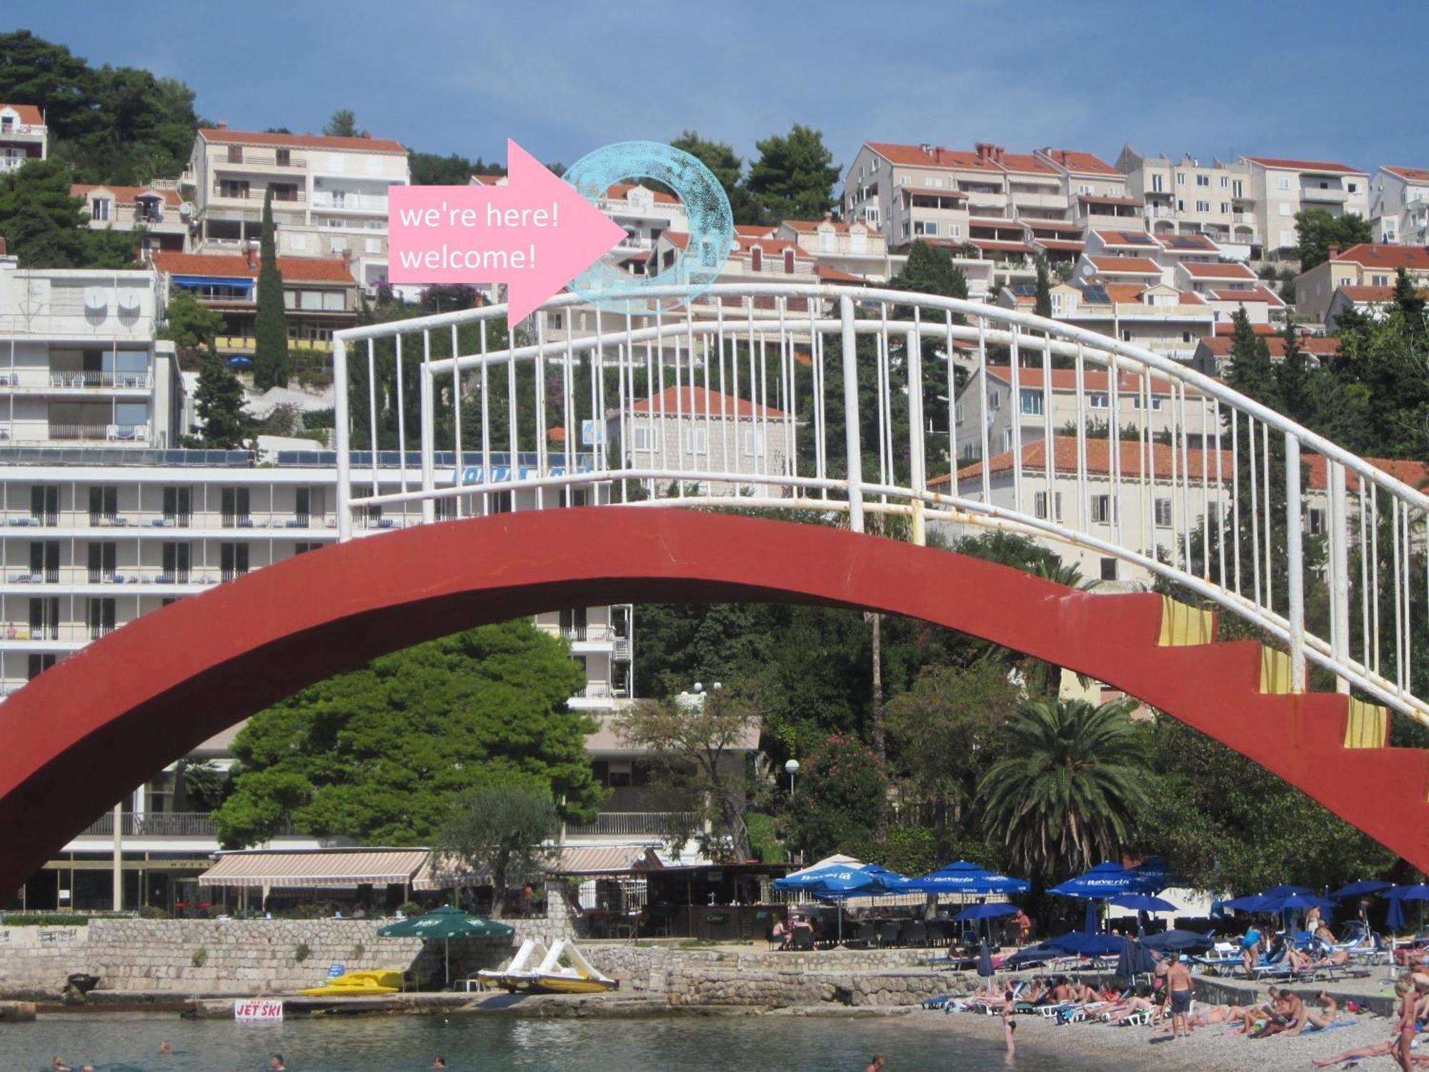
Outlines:
[[569, 164], [686, 127], [749, 157], [806, 123], [839, 164], [865, 140], [990, 140], [1429, 166], [1422, 0], [221, 7], [7, 0], [0, 26], [181, 79], [236, 129], [352, 107], [374, 136], [486, 159], [507, 136]]

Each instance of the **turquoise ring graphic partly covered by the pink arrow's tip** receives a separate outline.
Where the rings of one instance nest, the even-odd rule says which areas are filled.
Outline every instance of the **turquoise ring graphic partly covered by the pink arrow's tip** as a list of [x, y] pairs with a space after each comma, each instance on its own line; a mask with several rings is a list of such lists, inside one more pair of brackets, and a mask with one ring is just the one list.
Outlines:
[[663, 142], [616, 142], [580, 157], [562, 176], [592, 204], [620, 182], [654, 179], [680, 199], [690, 219], [686, 246], [653, 276], [632, 276], [597, 260], [570, 282], [594, 306], [622, 312], [624, 302], [660, 286], [689, 286], [696, 297], [719, 279], [735, 247], [735, 213], [719, 179], [697, 157]]

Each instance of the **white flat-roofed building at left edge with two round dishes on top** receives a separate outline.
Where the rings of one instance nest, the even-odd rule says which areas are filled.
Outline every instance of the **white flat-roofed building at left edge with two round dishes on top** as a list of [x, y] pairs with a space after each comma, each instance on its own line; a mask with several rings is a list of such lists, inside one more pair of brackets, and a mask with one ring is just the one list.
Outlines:
[[0, 256], [0, 445], [177, 442], [171, 343], [153, 272], [20, 270]]

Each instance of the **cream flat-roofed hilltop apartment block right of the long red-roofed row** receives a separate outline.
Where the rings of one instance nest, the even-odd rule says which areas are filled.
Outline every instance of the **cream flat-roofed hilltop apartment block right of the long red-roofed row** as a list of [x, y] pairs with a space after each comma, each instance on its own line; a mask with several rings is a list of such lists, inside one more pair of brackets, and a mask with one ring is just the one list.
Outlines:
[[1126, 174], [1129, 194], [1143, 202], [1146, 230], [1159, 237], [1205, 234], [1235, 260], [1259, 254], [1262, 236], [1249, 164], [1212, 160], [1208, 167], [1189, 153], [1173, 162], [1126, 146], [1116, 167]]

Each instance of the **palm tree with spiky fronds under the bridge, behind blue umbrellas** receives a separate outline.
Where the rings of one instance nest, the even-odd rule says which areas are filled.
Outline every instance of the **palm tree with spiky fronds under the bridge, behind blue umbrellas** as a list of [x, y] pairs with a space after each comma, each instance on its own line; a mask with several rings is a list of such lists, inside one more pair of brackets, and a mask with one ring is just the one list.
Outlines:
[[1010, 719], [1006, 756], [983, 776], [985, 829], [1010, 863], [1056, 878], [1115, 859], [1146, 803], [1145, 756], [1127, 700], [1036, 700]]

